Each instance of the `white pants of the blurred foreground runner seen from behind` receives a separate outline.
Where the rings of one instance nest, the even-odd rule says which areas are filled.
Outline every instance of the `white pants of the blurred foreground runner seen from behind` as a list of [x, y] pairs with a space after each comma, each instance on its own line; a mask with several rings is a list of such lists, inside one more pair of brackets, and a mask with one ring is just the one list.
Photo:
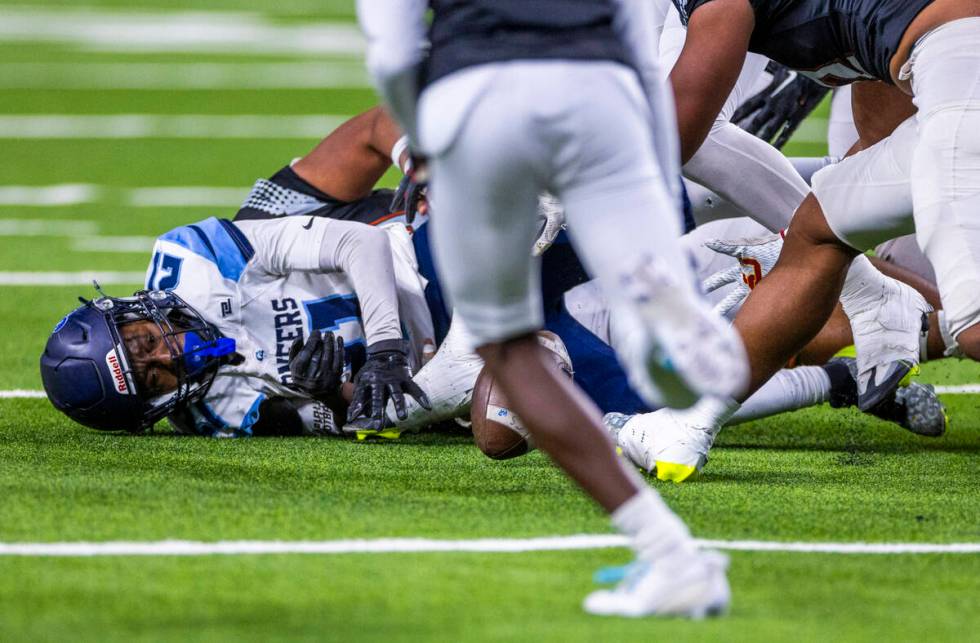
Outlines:
[[677, 179], [664, 176], [655, 150], [657, 137], [676, 133], [652, 132], [647, 105], [635, 73], [611, 62], [482, 65], [425, 90], [419, 139], [432, 166], [433, 251], [478, 345], [543, 323], [530, 253], [542, 191], [561, 200], [579, 257], [614, 307], [631, 305], [617, 285], [648, 255], [696, 288], [677, 244], [667, 185]]

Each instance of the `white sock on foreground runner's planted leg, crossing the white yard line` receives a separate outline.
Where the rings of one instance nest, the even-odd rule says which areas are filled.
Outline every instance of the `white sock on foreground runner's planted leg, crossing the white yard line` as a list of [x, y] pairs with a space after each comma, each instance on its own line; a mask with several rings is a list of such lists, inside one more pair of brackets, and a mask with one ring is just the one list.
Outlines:
[[638, 558], [690, 556], [697, 551], [687, 525], [657, 492], [643, 488], [612, 513], [612, 523], [632, 541]]

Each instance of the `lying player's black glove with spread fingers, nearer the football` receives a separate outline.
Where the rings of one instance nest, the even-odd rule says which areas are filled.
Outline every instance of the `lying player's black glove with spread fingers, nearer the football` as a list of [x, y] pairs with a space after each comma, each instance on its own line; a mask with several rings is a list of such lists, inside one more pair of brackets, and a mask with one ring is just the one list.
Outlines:
[[380, 430], [385, 422], [388, 400], [395, 403], [398, 419], [408, 417], [405, 394], [415, 398], [425, 409], [431, 409], [429, 398], [412, 381], [408, 368], [405, 342], [400, 339], [377, 342], [368, 346], [368, 358], [354, 377], [354, 395], [347, 409], [347, 421], [365, 416], [372, 420], [369, 428]]

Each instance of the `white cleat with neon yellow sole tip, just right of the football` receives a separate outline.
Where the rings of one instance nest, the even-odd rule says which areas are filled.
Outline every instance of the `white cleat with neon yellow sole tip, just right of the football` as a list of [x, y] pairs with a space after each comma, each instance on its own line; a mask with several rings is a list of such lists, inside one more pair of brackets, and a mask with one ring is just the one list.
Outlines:
[[658, 480], [684, 482], [708, 463], [717, 427], [701, 427], [693, 413], [660, 409], [653, 413], [607, 413], [603, 424], [630, 462]]

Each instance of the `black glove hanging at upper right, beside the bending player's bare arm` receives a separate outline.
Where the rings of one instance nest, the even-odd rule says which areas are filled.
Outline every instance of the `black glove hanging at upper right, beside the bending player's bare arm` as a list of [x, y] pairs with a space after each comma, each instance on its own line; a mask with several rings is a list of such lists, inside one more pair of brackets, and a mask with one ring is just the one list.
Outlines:
[[772, 82], [745, 101], [732, 122], [780, 149], [830, 89], [771, 61], [766, 71], [772, 74]]

